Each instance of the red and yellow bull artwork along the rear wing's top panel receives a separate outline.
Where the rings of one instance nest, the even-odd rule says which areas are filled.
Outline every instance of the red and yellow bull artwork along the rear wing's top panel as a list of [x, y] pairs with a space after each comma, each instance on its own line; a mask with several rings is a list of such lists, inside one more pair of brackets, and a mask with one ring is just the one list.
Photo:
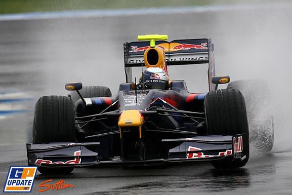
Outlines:
[[[157, 47], [161, 48], [162, 50], [166, 50], [166, 52], [175, 52], [179, 50], [190, 50], [190, 49], [208, 49], [207, 43], [202, 43], [200, 45], [195, 44], [180, 44], [180, 43], [170, 43], [170, 44], [159, 44], [156, 45]], [[130, 52], [142, 52], [146, 51], [150, 46], [145, 47], [138, 47], [138, 46], [131, 46]]]

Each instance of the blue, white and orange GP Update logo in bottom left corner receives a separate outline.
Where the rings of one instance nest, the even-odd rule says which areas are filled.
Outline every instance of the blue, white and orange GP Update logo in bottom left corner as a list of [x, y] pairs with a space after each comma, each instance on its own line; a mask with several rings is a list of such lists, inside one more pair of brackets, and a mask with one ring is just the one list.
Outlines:
[[3, 192], [31, 192], [36, 170], [34, 166], [10, 167]]

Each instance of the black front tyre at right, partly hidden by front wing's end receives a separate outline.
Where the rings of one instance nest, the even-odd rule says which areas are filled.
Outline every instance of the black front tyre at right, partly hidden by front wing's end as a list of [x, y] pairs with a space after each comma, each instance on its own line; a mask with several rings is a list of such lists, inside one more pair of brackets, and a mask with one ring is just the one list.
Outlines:
[[246, 118], [245, 102], [240, 91], [235, 89], [220, 89], [209, 92], [204, 99], [204, 109], [208, 135], [237, 135], [242, 136], [242, 161], [230, 159], [213, 161], [218, 169], [243, 167], [249, 158], [249, 133]]

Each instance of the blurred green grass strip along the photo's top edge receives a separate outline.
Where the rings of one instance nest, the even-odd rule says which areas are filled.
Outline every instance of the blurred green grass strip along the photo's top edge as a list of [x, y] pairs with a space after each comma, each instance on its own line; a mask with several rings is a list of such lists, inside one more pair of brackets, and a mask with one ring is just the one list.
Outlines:
[[[289, 2], [286, 1], [277, 1]], [[176, 8], [213, 5], [243, 5], [243, 4], [268, 3], [262, 0], [2, 0], [1, 14], [31, 13], [31, 12], [58, 12], [72, 10], [109, 10], [109, 9], [143, 9], [143, 8]]]

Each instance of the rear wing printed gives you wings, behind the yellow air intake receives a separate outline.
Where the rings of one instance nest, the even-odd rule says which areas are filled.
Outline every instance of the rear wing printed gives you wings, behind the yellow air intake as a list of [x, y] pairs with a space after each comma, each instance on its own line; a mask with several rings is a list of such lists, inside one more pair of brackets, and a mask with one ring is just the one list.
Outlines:
[[[156, 46], [165, 52], [166, 65], [208, 64], [209, 90], [214, 90], [212, 76], [215, 76], [214, 46], [211, 38], [192, 40], [156, 41]], [[132, 82], [132, 67], [145, 66], [144, 52], [149, 41], [124, 43], [124, 70], [126, 82]]]

